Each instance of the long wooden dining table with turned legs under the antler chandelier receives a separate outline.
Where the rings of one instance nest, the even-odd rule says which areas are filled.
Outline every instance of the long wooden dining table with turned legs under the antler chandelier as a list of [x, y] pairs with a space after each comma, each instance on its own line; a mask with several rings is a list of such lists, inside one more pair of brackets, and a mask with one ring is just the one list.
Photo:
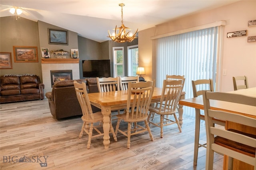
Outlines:
[[[162, 96], [162, 88], [154, 88], [154, 92], [152, 95], [151, 103], [156, 103], [160, 101]], [[101, 109], [103, 115], [103, 144], [104, 148], [108, 149], [110, 144], [110, 137], [109, 137], [109, 129], [110, 129], [110, 114], [111, 110], [118, 110], [124, 109], [127, 106], [127, 97], [128, 91], [127, 90], [120, 90], [120, 91], [113, 91], [113, 92], [98, 92], [98, 93], [88, 93], [88, 97], [90, 102], [93, 106], [96, 106]], [[185, 92], [182, 92], [180, 96], [180, 100], [184, 99]], [[179, 113], [179, 122], [182, 126], [183, 120], [183, 109], [182, 105], [179, 105], [178, 113]]]

